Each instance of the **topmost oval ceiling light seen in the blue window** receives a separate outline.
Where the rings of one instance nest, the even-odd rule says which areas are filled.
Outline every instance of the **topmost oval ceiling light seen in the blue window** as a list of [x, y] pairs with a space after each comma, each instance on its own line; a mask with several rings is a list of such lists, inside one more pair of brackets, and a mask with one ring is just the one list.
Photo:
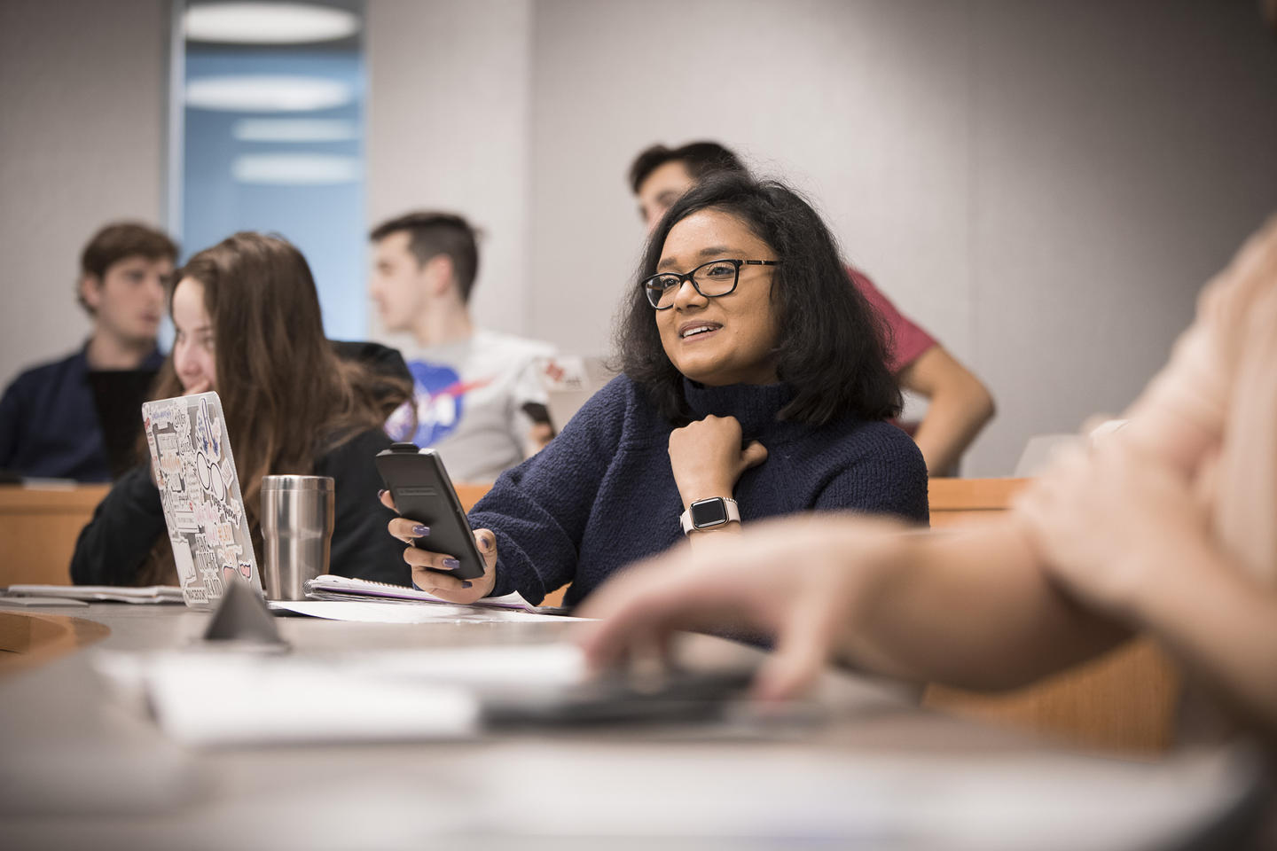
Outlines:
[[184, 15], [188, 41], [235, 45], [301, 45], [359, 32], [359, 15], [301, 3], [207, 3]]

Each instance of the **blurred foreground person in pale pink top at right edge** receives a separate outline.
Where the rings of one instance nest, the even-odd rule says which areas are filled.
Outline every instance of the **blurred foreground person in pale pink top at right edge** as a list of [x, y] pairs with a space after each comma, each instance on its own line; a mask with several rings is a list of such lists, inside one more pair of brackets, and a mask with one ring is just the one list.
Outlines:
[[[1000, 519], [902, 536], [796, 518], [664, 555], [591, 598], [584, 614], [605, 624], [589, 655], [603, 666], [730, 624], [775, 639], [757, 693], [778, 699], [830, 660], [999, 690], [1145, 635], [1193, 686], [1181, 735], [1250, 726], [1277, 744], [1274, 364], [1277, 217], [1207, 285], [1126, 424], [1059, 455]], [[780, 559], [805, 569], [778, 577]]]

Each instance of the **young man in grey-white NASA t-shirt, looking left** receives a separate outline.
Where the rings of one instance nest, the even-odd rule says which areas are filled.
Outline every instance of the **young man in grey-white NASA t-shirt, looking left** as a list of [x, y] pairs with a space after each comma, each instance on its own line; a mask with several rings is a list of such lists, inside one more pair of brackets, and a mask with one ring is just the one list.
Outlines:
[[524, 408], [544, 410], [538, 359], [553, 348], [475, 327], [469, 300], [479, 250], [460, 216], [407, 213], [377, 226], [372, 240], [370, 293], [382, 323], [416, 341], [404, 350], [412, 410], [396, 411], [387, 433], [438, 449], [453, 481], [493, 481], [549, 438]]

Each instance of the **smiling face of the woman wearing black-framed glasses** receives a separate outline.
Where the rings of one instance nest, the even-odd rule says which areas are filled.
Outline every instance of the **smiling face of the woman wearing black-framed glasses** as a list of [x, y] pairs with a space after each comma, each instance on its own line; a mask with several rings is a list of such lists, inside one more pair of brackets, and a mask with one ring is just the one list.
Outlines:
[[[669, 231], [656, 270], [686, 273], [724, 259], [775, 260], [776, 254], [741, 219], [702, 209]], [[679, 373], [714, 387], [776, 381], [773, 268], [742, 265], [736, 290], [715, 299], [684, 281], [673, 307], [653, 311], [660, 343]]]

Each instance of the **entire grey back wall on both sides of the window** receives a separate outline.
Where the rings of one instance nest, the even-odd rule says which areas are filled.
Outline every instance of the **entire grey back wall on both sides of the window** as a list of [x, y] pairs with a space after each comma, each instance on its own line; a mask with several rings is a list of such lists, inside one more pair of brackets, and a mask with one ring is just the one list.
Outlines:
[[[92, 230], [160, 218], [166, 10], [0, 3], [0, 379], [86, 332]], [[1277, 207], [1253, 0], [370, 0], [368, 50], [368, 221], [484, 227], [484, 324], [605, 351], [631, 157], [718, 138], [991, 385], [968, 475], [1129, 402]]]

